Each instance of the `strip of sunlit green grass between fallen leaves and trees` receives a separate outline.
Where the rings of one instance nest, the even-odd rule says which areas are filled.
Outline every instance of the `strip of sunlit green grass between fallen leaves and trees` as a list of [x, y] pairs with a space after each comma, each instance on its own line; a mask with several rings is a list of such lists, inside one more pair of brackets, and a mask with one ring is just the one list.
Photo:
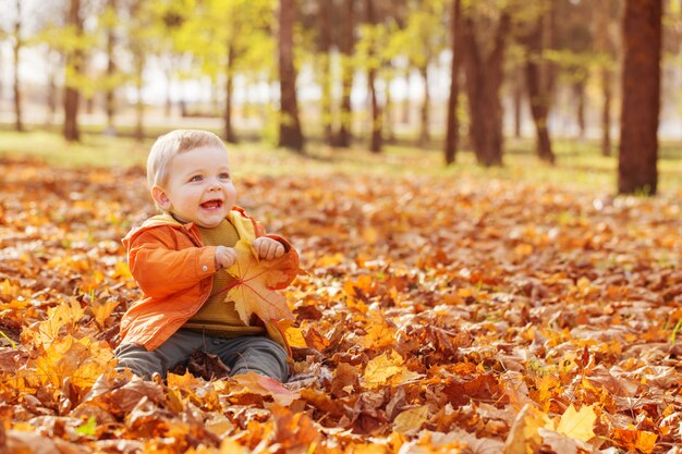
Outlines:
[[[136, 143], [126, 137], [84, 134], [80, 144], [69, 144], [57, 133], [0, 131], [0, 156], [40, 159], [54, 167], [144, 165], [153, 140]], [[439, 146], [435, 142], [436, 146]], [[456, 163], [446, 167], [439, 149], [409, 145], [387, 145], [383, 152], [370, 154], [364, 142], [350, 149], [331, 148], [309, 140], [306, 155], [278, 149], [269, 144], [245, 142], [230, 146], [234, 173], [243, 174], [328, 174], [410, 176], [442, 179], [472, 177], [486, 184], [491, 180], [529, 184], [556, 184], [580, 191], [614, 193], [618, 161], [605, 158], [594, 142], [555, 140], [557, 164], [540, 162], [532, 139], [507, 139], [504, 165], [482, 168], [473, 152], [458, 154]], [[613, 152], [617, 154], [617, 150]], [[682, 144], [663, 143], [660, 149], [659, 192], [682, 195]]]

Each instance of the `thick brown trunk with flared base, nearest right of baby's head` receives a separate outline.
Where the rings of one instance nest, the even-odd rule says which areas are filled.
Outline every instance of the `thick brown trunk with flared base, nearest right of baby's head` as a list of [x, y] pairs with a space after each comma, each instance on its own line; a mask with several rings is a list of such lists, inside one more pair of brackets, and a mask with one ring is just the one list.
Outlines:
[[294, 66], [295, 0], [279, 2], [279, 73], [280, 119], [279, 146], [303, 151], [304, 139], [296, 100], [296, 69]]

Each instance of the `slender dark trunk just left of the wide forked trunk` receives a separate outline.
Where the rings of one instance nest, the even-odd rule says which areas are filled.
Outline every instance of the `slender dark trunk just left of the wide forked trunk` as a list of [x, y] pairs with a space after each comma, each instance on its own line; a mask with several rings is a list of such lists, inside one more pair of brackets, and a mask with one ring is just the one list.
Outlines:
[[452, 62], [450, 64], [450, 97], [448, 98], [448, 126], [446, 130], [444, 158], [446, 164], [454, 162], [460, 138], [460, 122], [458, 119], [458, 98], [460, 96], [460, 16], [462, 13], [462, 0], [452, 1], [452, 16], [450, 19], [450, 39], [452, 49]]

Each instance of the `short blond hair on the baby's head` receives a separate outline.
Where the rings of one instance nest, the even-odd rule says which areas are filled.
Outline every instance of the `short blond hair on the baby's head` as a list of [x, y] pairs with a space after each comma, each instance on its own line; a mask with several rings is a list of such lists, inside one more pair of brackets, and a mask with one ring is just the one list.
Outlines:
[[228, 152], [220, 137], [208, 131], [175, 130], [157, 138], [147, 158], [149, 189], [168, 183], [168, 169], [175, 155], [202, 147], [222, 148]]

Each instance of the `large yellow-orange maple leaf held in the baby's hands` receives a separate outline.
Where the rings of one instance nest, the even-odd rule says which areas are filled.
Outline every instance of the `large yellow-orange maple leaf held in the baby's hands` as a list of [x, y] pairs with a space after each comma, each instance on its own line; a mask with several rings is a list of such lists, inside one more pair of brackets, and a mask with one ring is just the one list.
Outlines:
[[299, 260], [291, 249], [275, 260], [258, 260], [251, 243], [240, 240], [234, 246], [236, 261], [227, 272], [236, 279], [231, 285], [226, 300], [233, 300], [234, 308], [245, 324], [249, 324], [252, 314], [264, 321], [293, 320], [294, 316], [287, 298], [276, 292], [299, 273]]

